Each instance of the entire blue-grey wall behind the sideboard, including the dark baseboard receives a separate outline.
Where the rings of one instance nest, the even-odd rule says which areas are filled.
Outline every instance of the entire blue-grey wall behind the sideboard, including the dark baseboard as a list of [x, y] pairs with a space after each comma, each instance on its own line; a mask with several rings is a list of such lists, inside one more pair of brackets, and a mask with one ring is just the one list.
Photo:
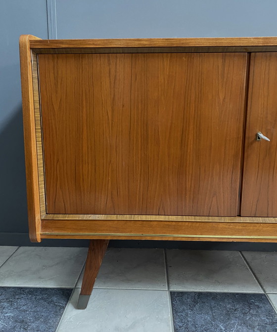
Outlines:
[[[0, 0], [0, 245], [28, 239], [18, 38], [277, 36], [276, 0]], [[87, 241], [44, 240], [44, 246]], [[273, 250], [271, 244], [114, 241], [114, 246]]]

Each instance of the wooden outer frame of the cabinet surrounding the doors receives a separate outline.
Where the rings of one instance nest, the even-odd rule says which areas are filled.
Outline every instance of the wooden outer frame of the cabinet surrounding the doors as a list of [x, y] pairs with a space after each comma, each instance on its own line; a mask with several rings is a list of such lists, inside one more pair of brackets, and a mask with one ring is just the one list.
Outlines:
[[30, 239], [141, 239], [277, 242], [277, 218], [47, 214], [37, 54], [277, 51], [276, 37], [40, 40], [20, 37]]

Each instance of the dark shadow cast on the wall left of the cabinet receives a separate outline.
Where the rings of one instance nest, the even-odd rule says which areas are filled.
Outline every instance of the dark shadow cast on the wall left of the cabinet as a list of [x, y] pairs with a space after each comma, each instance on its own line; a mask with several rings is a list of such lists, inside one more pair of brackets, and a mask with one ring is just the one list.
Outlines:
[[0, 232], [28, 232], [22, 108], [0, 131]]

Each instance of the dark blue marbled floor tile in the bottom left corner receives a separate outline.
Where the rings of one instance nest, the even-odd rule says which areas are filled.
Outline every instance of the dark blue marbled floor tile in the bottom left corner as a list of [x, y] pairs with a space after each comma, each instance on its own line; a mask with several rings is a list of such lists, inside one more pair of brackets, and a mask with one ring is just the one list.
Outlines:
[[0, 288], [1, 332], [55, 332], [72, 290]]

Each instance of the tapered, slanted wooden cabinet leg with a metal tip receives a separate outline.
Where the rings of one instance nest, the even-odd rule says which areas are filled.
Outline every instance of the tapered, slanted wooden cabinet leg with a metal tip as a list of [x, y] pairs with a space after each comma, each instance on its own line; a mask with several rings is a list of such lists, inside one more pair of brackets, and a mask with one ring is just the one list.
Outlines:
[[77, 308], [86, 309], [109, 240], [91, 240]]

